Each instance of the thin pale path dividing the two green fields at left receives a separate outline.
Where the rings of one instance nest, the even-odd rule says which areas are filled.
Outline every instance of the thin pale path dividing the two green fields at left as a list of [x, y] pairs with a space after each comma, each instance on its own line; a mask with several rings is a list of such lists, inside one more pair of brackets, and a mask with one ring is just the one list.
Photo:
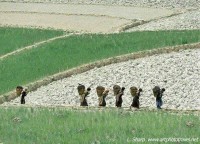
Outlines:
[[7, 53], [7, 54], [5, 54], [5, 55], [0, 56], [0, 60], [3, 60], [3, 59], [5, 59], [5, 58], [7, 58], [7, 57], [10, 57], [10, 56], [13, 56], [13, 55], [15, 55], [15, 54], [18, 54], [18, 53], [23, 52], [23, 51], [25, 51], [25, 50], [30, 50], [30, 49], [33, 49], [33, 48], [37, 48], [38, 46], [40, 46], [40, 45], [42, 45], [42, 44], [49, 43], [49, 42], [52, 42], [52, 41], [57, 40], [57, 39], [62, 39], [62, 38], [65, 38], [65, 37], [69, 37], [69, 36], [71, 36], [71, 35], [75, 35], [75, 34], [71, 33], [71, 34], [67, 34], [67, 35], [62, 35], [62, 36], [50, 38], [50, 39], [48, 39], [48, 40], [44, 40], [44, 41], [41, 41], [41, 42], [37, 42], [37, 43], [35, 43], [35, 44], [33, 44], [33, 45], [30, 45], [30, 46], [27, 46], [27, 47], [23, 47], [23, 48], [17, 49], [17, 50], [15, 50], [15, 51], [12, 51], [12, 52], [10, 52], [10, 53]]

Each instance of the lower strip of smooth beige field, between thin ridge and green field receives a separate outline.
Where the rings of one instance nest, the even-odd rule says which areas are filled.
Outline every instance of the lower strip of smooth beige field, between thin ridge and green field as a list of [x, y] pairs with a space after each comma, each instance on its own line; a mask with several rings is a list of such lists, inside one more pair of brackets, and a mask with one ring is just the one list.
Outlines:
[[0, 25], [62, 29], [82, 33], [113, 33], [128, 20], [84, 15], [2, 13]]

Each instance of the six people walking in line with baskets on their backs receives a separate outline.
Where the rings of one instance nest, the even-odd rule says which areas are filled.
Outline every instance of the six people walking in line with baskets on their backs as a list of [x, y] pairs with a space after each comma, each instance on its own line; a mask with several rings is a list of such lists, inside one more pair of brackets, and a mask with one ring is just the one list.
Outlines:
[[[80, 96], [80, 106], [88, 106], [87, 103], [87, 96], [90, 94], [91, 88], [86, 87], [82, 84], [79, 84], [77, 87], [78, 94]], [[115, 106], [116, 107], [121, 107], [122, 106], [122, 96], [124, 95], [124, 90], [125, 87], [120, 87], [119, 85], [114, 85], [113, 86], [113, 92], [115, 96]], [[162, 102], [162, 96], [163, 92], [165, 91], [165, 88], [160, 88], [159, 86], [155, 86], [153, 89], [153, 95], [156, 98], [156, 106], [158, 109], [161, 109], [161, 106], [163, 104]], [[142, 92], [141, 88], [137, 88], [135, 86], [130, 87], [130, 93], [131, 96], [133, 97], [131, 107], [134, 108], [139, 108], [140, 107], [140, 93]], [[99, 101], [99, 106], [105, 107], [106, 106], [106, 97], [109, 93], [109, 90], [106, 89], [103, 86], [97, 86], [96, 87], [96, 93], [98, 96], [98, 101]], [[27, 88], [23, 88], [22, 86], [17, 86], [16, 87], [16, 94], [17, 96], [21, 97], [21, 104], [25, 104], [25, 96], [27, 95]]]

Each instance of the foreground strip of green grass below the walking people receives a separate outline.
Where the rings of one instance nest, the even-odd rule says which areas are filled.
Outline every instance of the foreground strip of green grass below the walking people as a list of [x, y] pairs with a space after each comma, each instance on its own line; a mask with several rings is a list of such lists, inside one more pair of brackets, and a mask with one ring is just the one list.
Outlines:
[[136, 143], [136, 138], [194, 138], [200, 117], [169, 112], [127, 112], [122, 109], [71, 111], [61, 108], [1, 108], [0, 143]]

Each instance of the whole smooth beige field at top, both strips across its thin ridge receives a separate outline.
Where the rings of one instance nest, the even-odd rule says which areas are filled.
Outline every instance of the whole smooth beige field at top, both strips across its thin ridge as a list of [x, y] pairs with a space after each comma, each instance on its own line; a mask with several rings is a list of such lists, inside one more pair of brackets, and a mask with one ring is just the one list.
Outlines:
[[177, 12], [144, 7], [1, 2], [0, 25], [113, 33], [137, 21], [159, 19]]

